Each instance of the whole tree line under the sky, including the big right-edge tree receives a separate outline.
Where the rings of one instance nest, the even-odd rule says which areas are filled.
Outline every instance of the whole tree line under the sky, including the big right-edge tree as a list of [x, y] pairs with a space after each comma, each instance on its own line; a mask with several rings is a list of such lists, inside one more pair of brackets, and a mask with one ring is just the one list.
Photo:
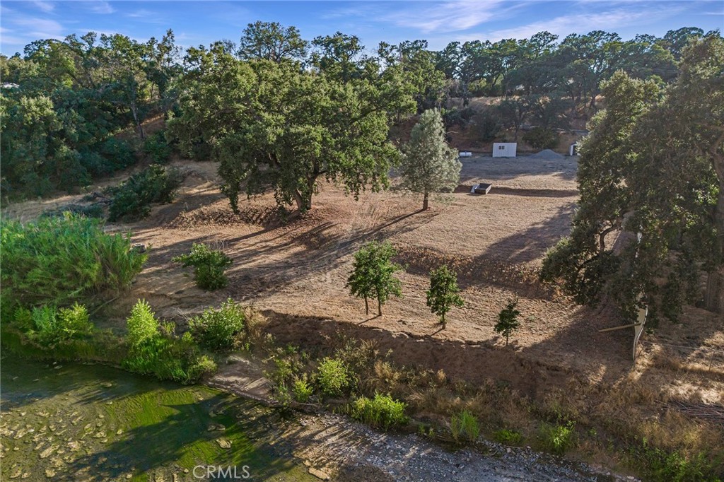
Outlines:
[[[452, 96], [501, 96], [481, 135], [508, 127], [517, 139], [532, 122], [526, 140], [544, 147], [574, 114], [594, 114], [603, 94], [581, 159], [581, 208], [544, 276], [582, 303], [610, 293], [633, 309], [639, 296], [658, 296], [675, 316], [694, 296], [697, 269], [712, 274], [710, 293], [721, 291], [721, 42], [718, 31], [682, 28], [630, 41], [542, 32], [442, 51], [382, 42], [371, 52], [353, 35], [306, 41], [274, 22], [183, 55], [170, 30], [146, 43], [95, 33], [36, 41], [0, 59], [2, 191], [42, 195], [128, 166], [135, 153], [117, 133], [132, 128], [138, 143], [148, 116], [163, 113], [168, 131], [154, 145], [219, 161], [233, 208], [271, 188], [280, 206], [305, 211], [319, 179], [353, 195], [386, 187], [390, 167], [413, 154], [400, 155], [390, 127], [441, 108], [448, 124], [465, 122], [445, 111]], [[641, 233], [624, 254], [606, 240], [620, 229]]]

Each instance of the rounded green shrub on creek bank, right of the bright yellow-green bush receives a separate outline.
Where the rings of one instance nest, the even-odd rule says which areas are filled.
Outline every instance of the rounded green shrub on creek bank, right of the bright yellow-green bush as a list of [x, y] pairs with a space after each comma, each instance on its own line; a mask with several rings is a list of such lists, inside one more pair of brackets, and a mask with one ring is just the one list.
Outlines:
[[228, 299], [218, 310], [209, 308], [201, 316], [191, 318], [188, 326], [199, 344], [211, 350], [230, 350], [237, 347], [245, 318], [242, 306]]

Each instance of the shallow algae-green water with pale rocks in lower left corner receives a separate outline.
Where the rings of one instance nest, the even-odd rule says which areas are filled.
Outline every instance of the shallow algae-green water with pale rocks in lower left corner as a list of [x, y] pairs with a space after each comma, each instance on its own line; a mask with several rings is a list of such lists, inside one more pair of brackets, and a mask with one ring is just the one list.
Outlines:
[[6, 356], [0, 400], [3, 481], [316, 480], [280, 413], [206, 386]]

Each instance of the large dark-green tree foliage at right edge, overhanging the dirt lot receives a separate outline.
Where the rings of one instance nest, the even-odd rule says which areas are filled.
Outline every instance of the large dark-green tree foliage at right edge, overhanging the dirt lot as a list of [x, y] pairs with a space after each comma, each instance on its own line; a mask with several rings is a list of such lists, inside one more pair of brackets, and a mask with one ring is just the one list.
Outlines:
[[542, 271], [581, 303], [610, 295], [633, 317], [641, 299], [677, 318], [702, 299], [703, 268], [707, 307], [723, 308], [723, 39], [691, 43], [680, 68], [663, 90], [625, 72], [602, 84], [607, 108], [581, 148], [573, 229]]

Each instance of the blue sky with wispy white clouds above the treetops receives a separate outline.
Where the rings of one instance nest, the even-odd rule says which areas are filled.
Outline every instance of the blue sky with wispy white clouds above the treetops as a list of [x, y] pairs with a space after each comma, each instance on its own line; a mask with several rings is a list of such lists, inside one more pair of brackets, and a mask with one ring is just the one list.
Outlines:
[[379, 41], [424, 38], [431, 48], [450, 41], [526, 38], [607, 30], [631, 38], [680, 27], [724, 30], [724, 1], [13, 1], [0, 5], [0, 51], [12, 55], [38, 38], [71, 33], [122, 33], [139, 41], [168, 28], [182, 46], [238, 41], [256, 20], [295, 25], [303, 38], [337, 30], [357, 35], [369, 50]]

